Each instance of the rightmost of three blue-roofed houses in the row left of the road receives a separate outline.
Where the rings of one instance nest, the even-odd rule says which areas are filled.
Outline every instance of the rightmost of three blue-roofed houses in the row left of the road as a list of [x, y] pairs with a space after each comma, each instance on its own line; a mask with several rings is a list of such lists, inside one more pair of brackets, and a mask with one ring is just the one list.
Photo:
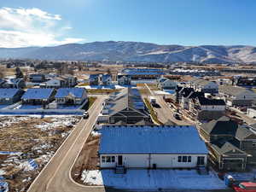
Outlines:
[[87, 99], [84, 88], [60, 88], [55, 95], [57, 104], [80, 105]]

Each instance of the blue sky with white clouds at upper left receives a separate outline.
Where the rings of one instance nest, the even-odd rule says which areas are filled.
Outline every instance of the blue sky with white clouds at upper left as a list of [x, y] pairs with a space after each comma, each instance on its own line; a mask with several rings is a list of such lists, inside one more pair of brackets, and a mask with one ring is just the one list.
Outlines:
[[94, 41], [256, 46], [255, 0], [0, 1], [0, 47]]

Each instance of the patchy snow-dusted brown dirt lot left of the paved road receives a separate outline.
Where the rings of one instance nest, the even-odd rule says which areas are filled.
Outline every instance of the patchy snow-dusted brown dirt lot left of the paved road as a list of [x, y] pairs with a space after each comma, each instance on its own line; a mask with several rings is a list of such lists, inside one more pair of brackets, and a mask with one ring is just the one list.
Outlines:
[[74, 117], [0, 117], [0, 174], [9, 190], [26, 191], [78, 122]]

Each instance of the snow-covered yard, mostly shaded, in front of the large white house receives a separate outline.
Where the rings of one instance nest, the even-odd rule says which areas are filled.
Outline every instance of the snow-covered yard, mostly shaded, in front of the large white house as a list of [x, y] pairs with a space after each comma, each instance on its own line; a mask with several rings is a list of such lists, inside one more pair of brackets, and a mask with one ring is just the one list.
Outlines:
[[115, 189], [226, 189], [224, 181], [213, 172], [199, 175], [195, 170], [127, 170], [126, 174], [115, 174], [113, 170], [84, 170], [81, 179], [88, 185]]

